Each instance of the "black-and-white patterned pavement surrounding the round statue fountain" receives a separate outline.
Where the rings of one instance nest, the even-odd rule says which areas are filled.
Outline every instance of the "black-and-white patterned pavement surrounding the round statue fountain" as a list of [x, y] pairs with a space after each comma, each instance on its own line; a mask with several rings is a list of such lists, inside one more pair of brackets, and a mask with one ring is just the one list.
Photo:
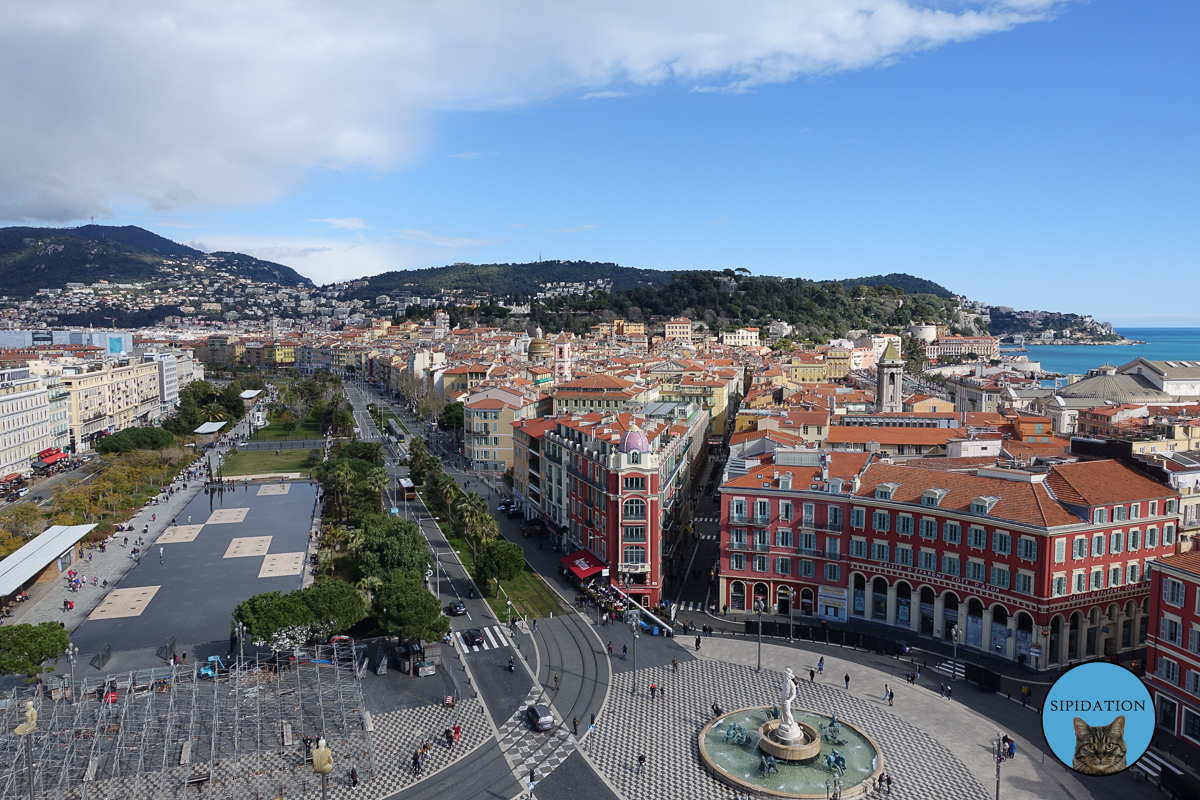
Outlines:
[[[691, 661], [679, 667], [617, 673], [605, 715], [588, 736], [586, 751], [605, 777], [626, 798], [702, 800], [732, 798], [734, 792], [709, 777], [697, 760], [696, 736], [712, 720], [709, 706], [726, 710], [762, 705], [779, 693], [781, 674], [720, 661]], [[640, 694], [632, 694], [634, 685]], [[655, 682], [665, 697], [650, 699]], [[988, 800], [989, 793], [944, 745], [911, 723], [835, 686], [800, 681], [797, 705], [829, 714], [871, 736], [883, 751], [895, 800]], [[637, 757], [646, 754], [638, 775]]]

